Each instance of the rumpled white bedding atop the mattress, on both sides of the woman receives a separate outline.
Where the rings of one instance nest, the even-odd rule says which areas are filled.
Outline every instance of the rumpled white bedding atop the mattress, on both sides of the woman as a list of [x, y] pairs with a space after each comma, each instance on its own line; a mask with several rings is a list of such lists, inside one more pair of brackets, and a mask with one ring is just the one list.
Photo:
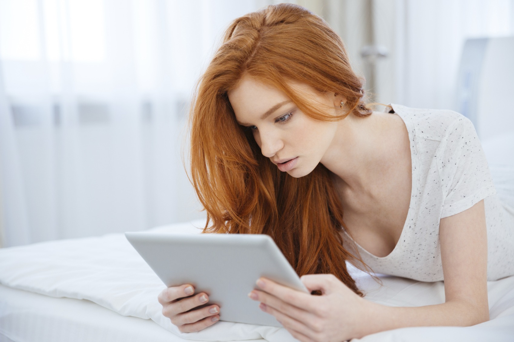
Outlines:
[[[158, 227], [154, 231], [194, 234], [199, 232], [194, 224], [200, 226], [197, 221]], [[443, 282], [424, 283], [381, 276], [384, 286], [379, 287], [369, 276], [362, 273], [354, 273], [354, 276], [367, 299], [384, 305], [423, 306], [444, 302]], [[0, 283], [47, 296], [88, 299], [121, 315], [150, 318], [164, 329], [186, 339], [294, 340], [285, 329], [225, 321], [197, 333], [180, 333], [161, 314], [157, 294], [163, 289], [163, 284], [122, 234], [42, 242], [0, 250]], [[491, 320], [483, 324], [466, 328], [402, 328], [354, 341], [514, 340], [514, 276], [488, 282], [488, 291]]]

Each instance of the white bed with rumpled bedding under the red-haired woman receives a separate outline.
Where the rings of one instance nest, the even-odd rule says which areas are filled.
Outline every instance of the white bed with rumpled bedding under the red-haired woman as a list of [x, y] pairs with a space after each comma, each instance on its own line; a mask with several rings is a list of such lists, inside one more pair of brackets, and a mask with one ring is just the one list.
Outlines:
[[[499, 196], [514, 208], [514, 168], [491, 167]], [[514, 211], [512, 211], [514, 213]], [[151, 231], [199, 234], [201, 220]], [[351, 268], [351, 265], [349, 265]], [[351, 268], [365, 298], [389, 306], [445, 300], [444, 283]], [[219, 321], [180, 333], [161, 314], [163, 284], [123, 234], [34, 243], [0, 250], [0, 342], [32, 341], [293, 341], [281, 328]], [[490, 320], [472, 327], [413, 327], [352, 341], [514, 341], [514, 276], [488, 282]], [[223, 318], [222, 318], [223, 319]]]

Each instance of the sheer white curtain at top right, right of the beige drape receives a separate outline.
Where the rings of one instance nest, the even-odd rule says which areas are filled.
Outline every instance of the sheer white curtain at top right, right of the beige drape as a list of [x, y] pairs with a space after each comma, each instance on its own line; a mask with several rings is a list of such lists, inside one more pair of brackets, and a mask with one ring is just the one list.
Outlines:
[[395, 26], [394, 61], [379, 66], [380, 90], [389, 94], [396, 85], [394, 101], [411, 107], [458, 111], [456, 81], [466, 39], [514, 35], [512, 0], [396, 0], [395, 14], [394, 23], [387, 21]]

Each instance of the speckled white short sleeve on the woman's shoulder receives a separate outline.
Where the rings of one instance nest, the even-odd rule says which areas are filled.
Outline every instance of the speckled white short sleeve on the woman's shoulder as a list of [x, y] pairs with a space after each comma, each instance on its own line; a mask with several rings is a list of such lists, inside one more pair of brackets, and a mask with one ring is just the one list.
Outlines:
[[468, 118], [459, 115], [439, 146], [437, 166], [444, 196], [441, 218], [496, 194], [484, 150]]

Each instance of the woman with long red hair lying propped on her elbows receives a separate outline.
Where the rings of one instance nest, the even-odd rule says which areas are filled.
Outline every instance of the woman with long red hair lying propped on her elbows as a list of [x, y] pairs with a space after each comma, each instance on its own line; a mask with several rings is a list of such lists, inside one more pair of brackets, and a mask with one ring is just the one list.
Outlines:
[[[191, 108], [204, 232], [273, 237], [321, 295], [261, 278], [249, 296], [301, 341], [488, 320], [486, 281], [514, 274], [514, 226], [473, 125], [449, 110], [372, 111], [362, 86], [340, 37], [305, 8], [270, 5], [233, 21]], [[446, 302], [368, 301], [346, 261], [444, 279]], [[159, 295], [182, 332], [219, 319], [208, 300], [190, 284]]]

